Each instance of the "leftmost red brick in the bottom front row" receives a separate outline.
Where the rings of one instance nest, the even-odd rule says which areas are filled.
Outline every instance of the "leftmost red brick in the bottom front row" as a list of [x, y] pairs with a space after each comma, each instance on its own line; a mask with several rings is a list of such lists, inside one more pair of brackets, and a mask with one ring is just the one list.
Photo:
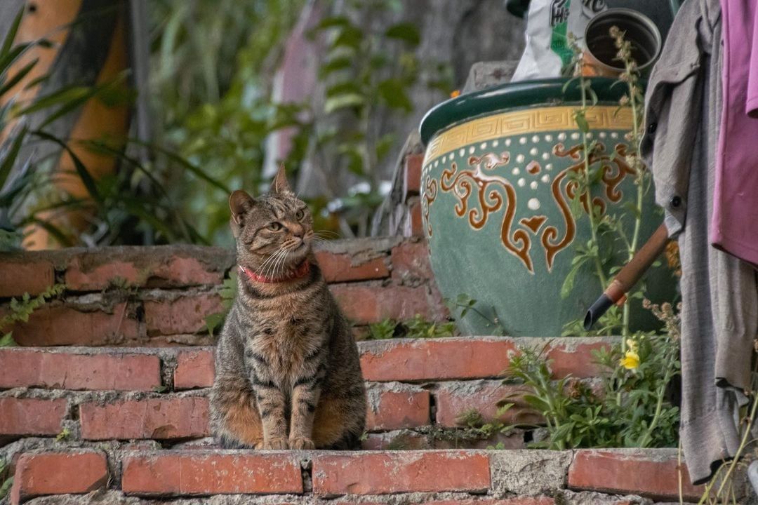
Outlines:
[[11, 500], [45, 494], [83, 494], [105, 488], [108, 463], [92, 451], [22, 454], [16, 463]]

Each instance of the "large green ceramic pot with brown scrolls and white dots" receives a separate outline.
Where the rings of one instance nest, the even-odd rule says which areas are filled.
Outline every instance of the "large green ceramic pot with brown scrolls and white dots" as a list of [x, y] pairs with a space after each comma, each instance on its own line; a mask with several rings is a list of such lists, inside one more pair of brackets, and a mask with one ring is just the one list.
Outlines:
[[[597, 106], [587, 112], [591, 136], [600, 142], [603, 178], [592, 194], [606, 214], [627, 214], [637, 198], [634, 170], [625, 162], [625, 134], [631, 111], [619, 110], [625, 86], [592, 79]], [[573, 111], [581, 103], [578, 83], [565, 79], [512, 83], [453, 98], [421, 121], [426, 148], [421, 171], [421, 208], [431, 266], [444, 298], [477, 301], [459, 321], [462, 332], [488, 335], [497, 318], [508, 335], [558, 336], [565, 324], [581, 320], [603, 291], [588, 264], [568, 298], [561, 288], [579, 246], [590, 240], [586, 211], [572, 215], [571, 175], [581, 170], [581, 134]], [[612, 153], [615, 151], [615, 155]], [[586, 204], [586, 199], [584, 200]], [[641, 244], [662, 220], [653, 192]], [[616, 241], [614, 264], [625, 263]], [[671, 300], [672, 281], [663, 268], [650, 270], [653, 301]], [[639, 304], [639, 301], [637, 301]], [[653, 323], [633, 307], [633, 325]]]

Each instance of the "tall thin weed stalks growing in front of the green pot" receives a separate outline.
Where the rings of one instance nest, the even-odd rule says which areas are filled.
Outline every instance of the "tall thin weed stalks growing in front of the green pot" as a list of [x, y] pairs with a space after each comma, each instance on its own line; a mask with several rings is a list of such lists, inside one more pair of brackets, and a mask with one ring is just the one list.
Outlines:
[[[610, 279], [617, 273], [622, 265], [615, 264], [613, 255], [622, 244], [625, 254], [622, 255], [624, 263], [628, 263], [640, 248], [641, 226], [644, 219], [649, 219], [647, 214], [651, 210], [644, 207], [644, 196], [650, 189], [650, 172], [641, 161], [639, 145], [643, 134], [643, 110], [644, 93], [640, 85], [640, 73], [636, 61], [631, 55], [631, 43], [624, 39], [624, 32], [613, 26], [610, 30], [615, 47], [618, 50], [616, 60], [624, 64], [624, 71], [614, 86], [625, 86], [626, 92], [619, 100], [619, 108], [616, 114], [623, 109], [631, 111], [632, 128], [625, 135], [627, 147], [625, 148], [625, 161], [634, 170], [634, 185], [636, 195], [634, 201], [625, 206], [622, 214], [602, 214], [600, 207], [594, 204], [594, 195], [600, 195], [597, 187], [603, 177], [604, 163], [612, 162], [619, 153], [615, 149], [609, 150], [607, 161], [603, 161], [600, 154], [606, 146], [601, 144], [590, 131], [587, 122], [587, 112], [597, 105], [597, 95], [593, 91], [590, 79], [582, 75], [584, 67], [584, 52], [579, 47], [577, 40], [572, 34], [568, 35], [569, 46], [574, 52], [572, 70], [575, 77], [566, 83], [567, 89], [572, 83], [578, 82], [581, 92], [581, 107], [574, 111], [574, 120], [581, 132], [581, 159], [583, 169], [571, 174], [572, 180], [577, 184], [577, 191], [572, 199], [572, 212], [577, 220], [586, 214], [587, 226], [590, 229], [590, 240], [585, 245], [580, 245], [575, 250], [572, 260], [572, 268], [566, 276], [561, 290], [561, 296], [568, 298], [574, 286], [575, 277], [581, 275], [581, 269], [590, 265], [591, 270], [600, 284], [600, 291], [608, 287]], [[581, 201], [587, 202], [588, 209], [584, 209]], [[628, 301], [641, 300], [644, 297], [643, 288], [636, 288], [628, 293]], [[612, 307], [597, 323], [597, 335], [612, 335], [621, 333], [628, 339], [630, 320], [630, 306], [624, 304], [619, 310]], [[587, 335], [582, 327], [581, 320], [572, 321], [564, 328], [564, 335]]]

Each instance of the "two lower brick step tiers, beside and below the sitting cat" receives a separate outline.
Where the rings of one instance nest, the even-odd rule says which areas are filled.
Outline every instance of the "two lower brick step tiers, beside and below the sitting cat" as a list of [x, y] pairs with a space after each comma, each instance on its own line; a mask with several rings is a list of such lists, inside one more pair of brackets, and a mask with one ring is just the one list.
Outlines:
[[[676, 450], [525, 450], [536, 436], [529, 430], [466, 438], [456, 416], [469, 408], [496, 415], [494, 402], [512, 391], [499, 377], [517, 344], [545, 348], [556, 378], [591, 378], [591, 351], [609, 339], [359, 342], [369, 407], [366, 450], [357, 453], [219, 450], [208, 436], [212, 348], [3, 349], [0, 458], [13, 462], [16, 503], [36, 505], [211, 494], [231, 495], [208, 502], [216, 504], [677, 499]], [[541, 422], [520, 402], [508, 415]], [[506, 450], [481, 450], [498, 442]], [[696, 500], [701, 489], [682, 472], [684, 497]], [[239, 496], [258, 494], [282, 501]]]

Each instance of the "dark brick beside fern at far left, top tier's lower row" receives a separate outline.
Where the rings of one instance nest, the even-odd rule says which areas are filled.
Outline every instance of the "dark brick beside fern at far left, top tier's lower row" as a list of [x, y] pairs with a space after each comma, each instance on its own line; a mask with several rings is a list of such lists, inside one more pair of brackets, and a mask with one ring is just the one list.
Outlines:
[[137, 338], [139, 325], [126, 303], [115, 304], [111, 313], [77, 310], [65, 304], [45, 304], [27, 323], [13, 326], [13, 337], [21, 345], [102, 345]]

